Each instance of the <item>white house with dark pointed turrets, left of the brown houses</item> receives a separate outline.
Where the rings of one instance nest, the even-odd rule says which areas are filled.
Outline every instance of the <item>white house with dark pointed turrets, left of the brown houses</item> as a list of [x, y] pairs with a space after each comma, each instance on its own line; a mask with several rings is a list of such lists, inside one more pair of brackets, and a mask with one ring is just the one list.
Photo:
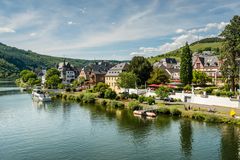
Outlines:
[[63, 84], [70, 84], [78, 75], [78, 70], [65, 60], [59, 63], [57, 68], [60, 72], [60, 79], [62, 79]]

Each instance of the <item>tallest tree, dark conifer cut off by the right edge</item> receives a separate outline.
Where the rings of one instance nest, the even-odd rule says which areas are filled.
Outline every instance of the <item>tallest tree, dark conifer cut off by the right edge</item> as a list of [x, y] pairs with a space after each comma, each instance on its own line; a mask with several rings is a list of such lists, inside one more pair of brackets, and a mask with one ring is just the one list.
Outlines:
[[221, 66], [223, 76], [229, 80], [232, 91], [236, 88], [240, 57], [240, 16], [234, 16], [220, 36], [224, 37]]

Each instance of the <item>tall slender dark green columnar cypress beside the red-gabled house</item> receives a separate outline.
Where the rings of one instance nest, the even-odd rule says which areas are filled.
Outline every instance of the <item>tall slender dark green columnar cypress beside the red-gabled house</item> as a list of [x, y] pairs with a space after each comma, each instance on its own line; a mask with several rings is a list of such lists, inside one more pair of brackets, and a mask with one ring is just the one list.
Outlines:
[[184, 85], [192, 83], [192, 52], [188, 43], [182, 49], [181, 65], [180, 65], [180, 79]]

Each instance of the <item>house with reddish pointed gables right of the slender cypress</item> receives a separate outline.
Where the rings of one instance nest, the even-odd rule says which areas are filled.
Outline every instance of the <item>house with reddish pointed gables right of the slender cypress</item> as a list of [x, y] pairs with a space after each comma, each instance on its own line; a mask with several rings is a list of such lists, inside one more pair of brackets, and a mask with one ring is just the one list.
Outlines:
[[217, 81], [221, 77], [221, 61], [216, 55], [212, 54], [195, 54], [192, 58], [193, 69], [205, 72], [209, 77]]

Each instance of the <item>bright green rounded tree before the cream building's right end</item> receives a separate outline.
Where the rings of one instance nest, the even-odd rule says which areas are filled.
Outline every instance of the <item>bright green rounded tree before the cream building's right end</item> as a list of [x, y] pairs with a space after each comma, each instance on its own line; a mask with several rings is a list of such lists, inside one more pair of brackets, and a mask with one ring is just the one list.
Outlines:
[[117, 85], [121, 88], [135, 88], [137, 76], [132, 72], [122, 72], [119, 74]]

